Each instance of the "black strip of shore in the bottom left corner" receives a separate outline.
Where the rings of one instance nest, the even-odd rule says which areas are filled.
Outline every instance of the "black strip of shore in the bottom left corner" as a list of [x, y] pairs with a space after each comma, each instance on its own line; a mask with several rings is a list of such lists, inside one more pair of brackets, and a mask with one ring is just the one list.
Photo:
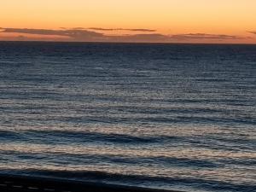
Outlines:
[[118, 184], [74, 181], [63, 178], [0, 174], [1, 192], [181, 192], [166, 189], [148, 189]]

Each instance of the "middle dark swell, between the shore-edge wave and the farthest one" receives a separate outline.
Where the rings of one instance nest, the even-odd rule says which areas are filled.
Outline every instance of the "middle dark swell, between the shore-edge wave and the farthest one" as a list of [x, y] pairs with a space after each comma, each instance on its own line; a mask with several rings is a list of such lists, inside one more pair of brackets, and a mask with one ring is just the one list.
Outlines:
[[[0, 154], [3, 154], [0, 150]], [[115, 164], [119, 166], [166, 166], [169, 169], [171, 167], [181, 167], [181, 168], [221, 168], [224, 167], [224, 163], [219, 164], [216, 160], [199, 160], [199, 159], [189, 159], [182, 157], [137, 157], [129, 156], [125, 154], [65, 154], [61, 152], [38, 152], [38, 153], [28, 153], [28, 152], [20, 152], [15, 150], [5, 150], [4, 154], [9, 154], [9, 156], [13, 156], [16, 161], [19, 160], [30, 160], [31, 162], [44, 162], [44, 164], [51, 163], [60, 163], [62, 165], [68, 164], [69, 166], [76, 165], [88, 165], [93, 166], [94, 164]], [[2, 160], [2, 158], [0, 158]], [[11, 162], [11, 160], [9, 160]], [[225, 162], [226, 164], [235, 163], [236, 165], [247, 165], [253, 166], [255, 160], [221, 160], [221, 162]]]

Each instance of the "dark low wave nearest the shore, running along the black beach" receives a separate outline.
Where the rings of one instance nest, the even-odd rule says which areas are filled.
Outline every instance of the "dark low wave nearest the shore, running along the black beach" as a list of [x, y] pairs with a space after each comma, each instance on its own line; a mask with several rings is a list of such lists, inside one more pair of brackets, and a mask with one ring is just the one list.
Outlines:
[[[256, 189], [255, 183], [230, 183], [228, 181], [209, 180], [188, 177], [149, 177], [145, 175], [125, 175], [109, 172], [84, 171], [51, 171], [51, 170], [6, 170], [3, 173], [49, 178], [65, 178], [76, 181], [95, 181], [98, 183], [121, 183], [124, 185], [144, 186], [160, 189], [172, 189], [173, 186], [188, 186], [190, 189], [211, 191], [251, 192]], [[149, 185], [148, 185], [149, 184]]]

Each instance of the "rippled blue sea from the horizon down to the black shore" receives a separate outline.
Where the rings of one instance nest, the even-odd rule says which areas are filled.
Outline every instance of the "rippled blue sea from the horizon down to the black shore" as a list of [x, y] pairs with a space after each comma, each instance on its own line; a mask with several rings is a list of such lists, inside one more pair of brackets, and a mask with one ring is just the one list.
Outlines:
[[2, 42], [0, 173], [256, 191], [256, 46]]

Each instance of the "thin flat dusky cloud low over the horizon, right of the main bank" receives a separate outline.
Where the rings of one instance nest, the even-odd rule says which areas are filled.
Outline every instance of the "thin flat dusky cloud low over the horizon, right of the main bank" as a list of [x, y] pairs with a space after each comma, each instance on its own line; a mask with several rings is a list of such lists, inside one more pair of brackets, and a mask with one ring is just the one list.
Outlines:
[[172, 35], [173, 39], [177, 40], [193, 40], [193, 39], [203, 39], [203, 40], [231, 40], [240, 39], [240, 37], [224, 34], [207, 34], [207, 33], [188, 33], [188, 34], [177, 34]]

